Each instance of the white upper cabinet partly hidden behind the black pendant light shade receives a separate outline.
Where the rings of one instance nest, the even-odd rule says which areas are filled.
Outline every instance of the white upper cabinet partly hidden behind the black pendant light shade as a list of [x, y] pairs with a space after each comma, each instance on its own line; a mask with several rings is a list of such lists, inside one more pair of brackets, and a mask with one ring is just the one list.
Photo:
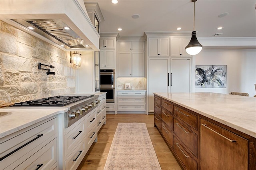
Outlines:
[[171, 56], [191, 56], [185, 50], [190, 39], [191, 37], [171, 37]]

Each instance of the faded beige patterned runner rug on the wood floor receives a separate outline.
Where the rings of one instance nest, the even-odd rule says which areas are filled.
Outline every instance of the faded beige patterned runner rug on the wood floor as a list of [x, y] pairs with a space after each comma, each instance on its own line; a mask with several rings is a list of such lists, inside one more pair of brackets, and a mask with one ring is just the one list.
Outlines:
[[145, 123], [118, 123], [104, 170], [161, 170]]

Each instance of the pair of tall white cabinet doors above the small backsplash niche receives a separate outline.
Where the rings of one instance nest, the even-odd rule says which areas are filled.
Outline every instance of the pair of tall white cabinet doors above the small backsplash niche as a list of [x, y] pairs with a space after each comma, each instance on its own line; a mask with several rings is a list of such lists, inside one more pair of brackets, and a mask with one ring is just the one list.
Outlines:
[[144, 52], [118, 52], [118, 77], [144, 77]]

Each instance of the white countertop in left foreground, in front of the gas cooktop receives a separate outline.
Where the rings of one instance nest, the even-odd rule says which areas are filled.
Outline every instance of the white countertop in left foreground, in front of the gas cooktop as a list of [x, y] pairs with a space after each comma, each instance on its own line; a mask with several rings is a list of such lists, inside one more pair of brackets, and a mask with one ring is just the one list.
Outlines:
[[68, 109], [0, 109], [0, 138], [43, 121]]

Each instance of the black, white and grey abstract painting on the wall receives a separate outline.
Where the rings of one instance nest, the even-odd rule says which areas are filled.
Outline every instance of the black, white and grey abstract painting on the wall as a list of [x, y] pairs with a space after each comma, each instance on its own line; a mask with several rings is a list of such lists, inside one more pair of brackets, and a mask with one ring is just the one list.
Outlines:
[[196, 65], [196, 88], [226, 88], [227, 65]]

